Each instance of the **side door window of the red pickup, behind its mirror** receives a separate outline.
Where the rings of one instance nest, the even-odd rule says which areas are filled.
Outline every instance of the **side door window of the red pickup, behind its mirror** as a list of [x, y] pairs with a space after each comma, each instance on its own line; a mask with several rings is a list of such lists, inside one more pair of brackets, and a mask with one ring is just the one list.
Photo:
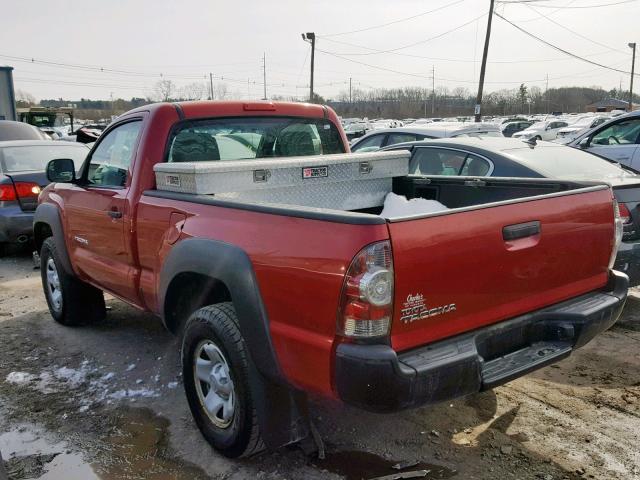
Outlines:
[[93, 152], [87, 179], [91, 185], [124, 187], [142, 122], [128, 122], [111, 130]]

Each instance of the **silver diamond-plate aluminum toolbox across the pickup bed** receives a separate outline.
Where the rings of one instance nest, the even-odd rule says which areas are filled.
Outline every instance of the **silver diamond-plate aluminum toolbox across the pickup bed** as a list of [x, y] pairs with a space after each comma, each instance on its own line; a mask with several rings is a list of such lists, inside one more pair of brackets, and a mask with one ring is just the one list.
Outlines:
[[159, 190], [251, 203], [358, 210], [379, 207], [392, 178], [409, 172], [409, 152], [348, 153], [210, 162], [159, 163]]

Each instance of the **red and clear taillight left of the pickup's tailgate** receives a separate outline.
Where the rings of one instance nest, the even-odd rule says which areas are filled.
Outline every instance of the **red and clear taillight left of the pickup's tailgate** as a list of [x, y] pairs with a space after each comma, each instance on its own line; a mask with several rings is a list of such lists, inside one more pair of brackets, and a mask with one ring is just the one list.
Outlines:
[[363, 248], [351, 262], [342, 287], [338, 334], [375, 338], [389, 334], [393, 315], [393, 260], [389, 241]]

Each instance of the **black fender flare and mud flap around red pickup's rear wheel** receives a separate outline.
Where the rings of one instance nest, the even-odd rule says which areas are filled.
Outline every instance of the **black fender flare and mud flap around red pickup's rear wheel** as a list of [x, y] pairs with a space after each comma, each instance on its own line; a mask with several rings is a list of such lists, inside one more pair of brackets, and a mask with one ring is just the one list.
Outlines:
[[280, 369], [267, 312], [246, 252], [235, 245], [200, 238], [174, 245], [160, 273], [158, 305], [163, 321], [167, 290], [181, 273], [211, 277], [222, 282], [231, 294], [254, 367], [249, 382], [265, 445], [275, 449], [305, 438], [309, 433], [306, 395], [289, 385]]

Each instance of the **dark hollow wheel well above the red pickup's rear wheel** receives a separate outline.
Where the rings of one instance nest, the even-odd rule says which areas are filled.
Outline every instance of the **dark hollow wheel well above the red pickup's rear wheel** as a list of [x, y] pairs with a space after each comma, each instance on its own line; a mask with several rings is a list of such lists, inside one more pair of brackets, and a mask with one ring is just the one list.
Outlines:
[[206, 305], [231, 301], [227, 286], [217, 278], [200, 273], [176, 275], [167, 287], [164, 299], [164, 323], [177, 333], [189, 315]]

